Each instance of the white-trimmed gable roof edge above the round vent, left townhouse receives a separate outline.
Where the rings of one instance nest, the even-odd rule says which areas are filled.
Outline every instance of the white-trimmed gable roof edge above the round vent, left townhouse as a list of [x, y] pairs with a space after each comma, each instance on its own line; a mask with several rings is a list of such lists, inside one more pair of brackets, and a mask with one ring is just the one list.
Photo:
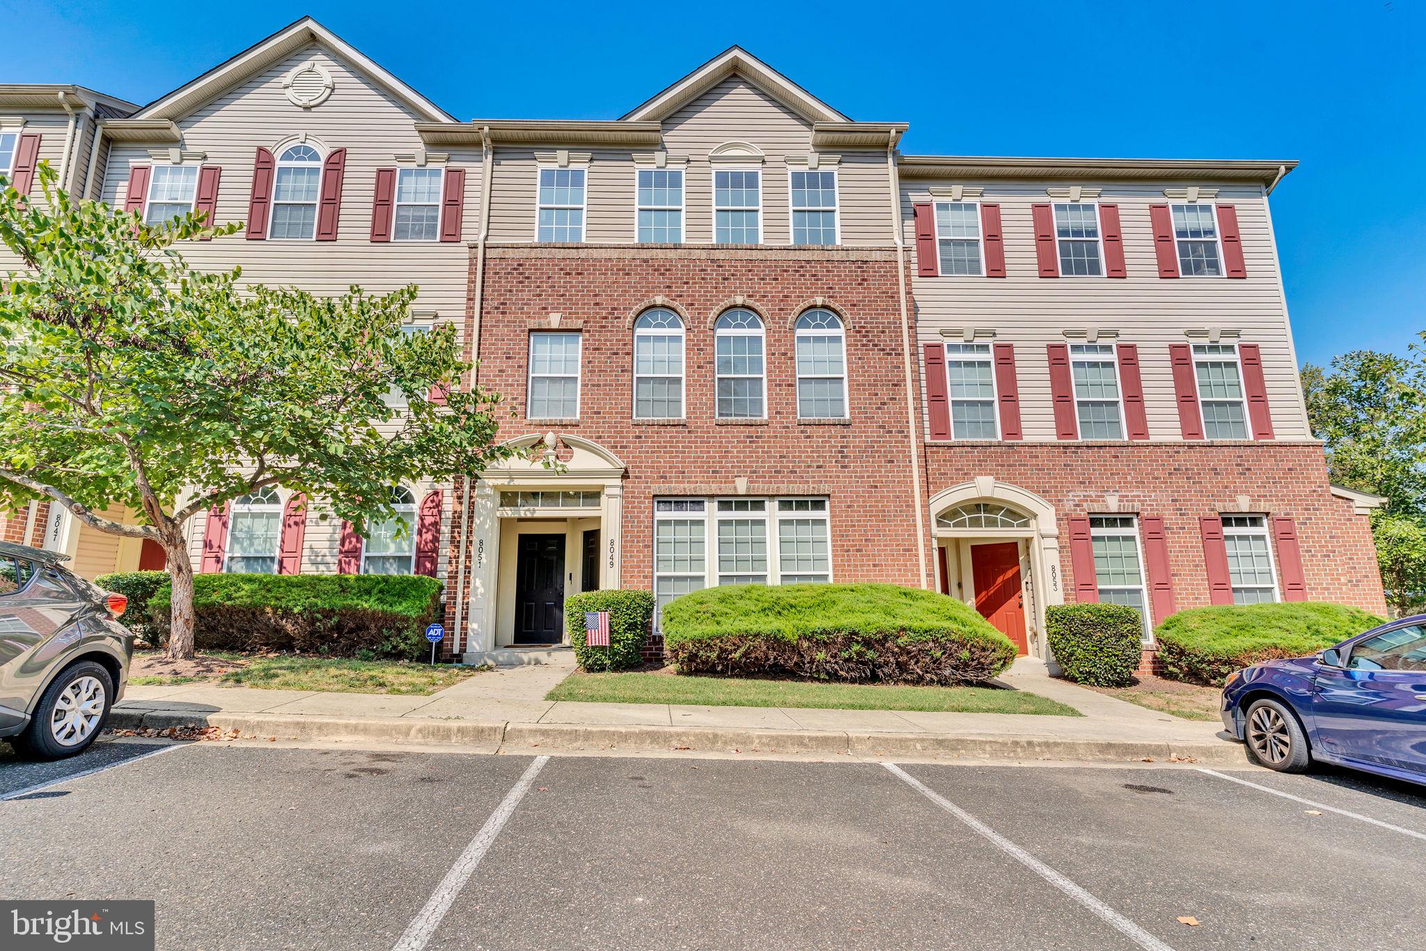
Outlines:
[[312, 17], [302, 17], [272, 36], [258, 40], [231, 60], [155, 98], [134, 113], [133, 118], [183, 118], [224, 90], [242, 83], [250, 76], [271, 67], [274, 63], [279, 63], [312, 43], [327, 47], [358, 67], [368, 78], [415, 110], [421, 118], [434, 123], [455, 121], [453, 115], [398, 80], [374, 60], [368, 58], [361, 50], [342, 40]]

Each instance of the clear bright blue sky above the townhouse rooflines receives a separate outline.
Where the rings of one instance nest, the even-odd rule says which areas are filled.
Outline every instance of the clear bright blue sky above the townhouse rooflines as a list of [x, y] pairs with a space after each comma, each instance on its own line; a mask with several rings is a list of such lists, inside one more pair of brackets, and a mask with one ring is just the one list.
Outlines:
[[1426, 329], [1423, 0], [157, 10], [0, 0], [26, 37], [0, 81], [144, 103], [311, 14], [458, 118], [613, 118], [737, 43], [853, 118], [908, 121], [910, 153], [1296, 158], [1272, 208], [1299, 359]]

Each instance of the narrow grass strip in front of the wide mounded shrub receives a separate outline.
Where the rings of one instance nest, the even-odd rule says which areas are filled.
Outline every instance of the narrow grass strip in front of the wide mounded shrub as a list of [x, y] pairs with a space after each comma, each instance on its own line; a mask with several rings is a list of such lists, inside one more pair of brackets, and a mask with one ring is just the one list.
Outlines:
[[703, 707], [816, 707], [823, 710], [921, 710], [935, 713], [1050, 713], [1074, 707], [1022, 690], [995, 687], [897, 687], [801, 680], [742, 680], [655, 673], [575, 673], [546, 700], [683, 703]]

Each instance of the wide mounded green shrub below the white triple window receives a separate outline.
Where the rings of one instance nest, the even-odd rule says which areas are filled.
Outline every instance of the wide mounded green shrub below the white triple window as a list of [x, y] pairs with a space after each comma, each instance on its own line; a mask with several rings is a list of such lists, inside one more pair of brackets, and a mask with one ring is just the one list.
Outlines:
[[1015, 644], [964, 602], [897, 585], [739, 585], [663, 609], [680, 673], [961, 684], [1000, 674]]

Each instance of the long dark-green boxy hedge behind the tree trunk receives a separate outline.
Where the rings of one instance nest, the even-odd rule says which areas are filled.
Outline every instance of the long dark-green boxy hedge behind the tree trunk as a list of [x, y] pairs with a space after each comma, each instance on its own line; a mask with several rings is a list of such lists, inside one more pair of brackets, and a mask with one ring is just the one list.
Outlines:
[[[441, 582], [419, 575], [198, 575], [193, 607], [200, 650], [371, 652], [419, 660], [431, 653], [425, 629], [438, 617]], [[148, 609], [167, 636], [168, 585]]]

